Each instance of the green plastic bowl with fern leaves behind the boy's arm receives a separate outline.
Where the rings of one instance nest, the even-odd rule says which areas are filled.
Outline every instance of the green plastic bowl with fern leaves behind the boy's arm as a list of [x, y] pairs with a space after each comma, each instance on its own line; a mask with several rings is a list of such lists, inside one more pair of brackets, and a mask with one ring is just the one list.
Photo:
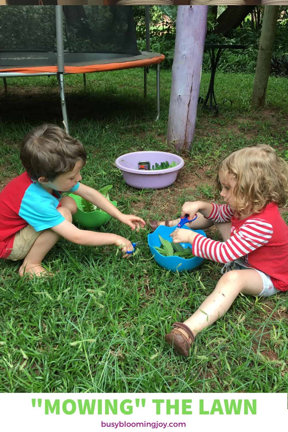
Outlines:
[[[73, 222], [78, 223], [84, 228], [98, 228], [99, 226], [104, 225], [104, 223], [108, 222], [112, 216], [108, 215], [108, 213], [103, 210], [94, 210], [92, 212], [83, 212], [81, 210], [81, 197], [79, 195], [69, 194], [69, 197], [73, 198], [73, 200], [77, 204], [77, 211], [73, 214]], [[115, 207], [117, 207], [116, 201], [110, 201]]]

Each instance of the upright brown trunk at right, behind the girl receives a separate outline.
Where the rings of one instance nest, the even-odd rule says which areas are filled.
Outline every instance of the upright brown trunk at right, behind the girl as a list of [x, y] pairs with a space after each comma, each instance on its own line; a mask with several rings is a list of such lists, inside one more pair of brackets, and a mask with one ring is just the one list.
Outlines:
[[264, 105], [268, 85], [272, 46], [275, 39], [279, 6], [265, 6], [255, 71], [251, 105]]

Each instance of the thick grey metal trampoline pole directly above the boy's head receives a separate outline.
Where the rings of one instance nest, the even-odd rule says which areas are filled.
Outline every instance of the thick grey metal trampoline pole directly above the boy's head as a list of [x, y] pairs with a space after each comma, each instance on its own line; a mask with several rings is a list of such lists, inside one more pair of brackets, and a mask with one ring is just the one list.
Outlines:
[[60, 90], [60, 100], [63, 115], [63, 123], [67, 133], [69, 133], [68, 115], [66, 110], [65, 92], [64, 92], [64, 43], [63, 43], [63, 7], [55, 6], [56, 19], [56, 41], [57, 41], [57, 66], [58, 66], [58, 84]]

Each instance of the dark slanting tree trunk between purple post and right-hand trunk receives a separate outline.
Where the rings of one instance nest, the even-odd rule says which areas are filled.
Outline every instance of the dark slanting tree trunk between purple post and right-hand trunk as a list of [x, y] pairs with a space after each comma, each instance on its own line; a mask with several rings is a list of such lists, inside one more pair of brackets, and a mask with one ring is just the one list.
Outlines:
[[255, 6], [227, 6], [224, 12], [217, 18], [218, 25], [212, 33], [227, 35], [231, 29], [237, 29], [238, 25], [251, 13]]

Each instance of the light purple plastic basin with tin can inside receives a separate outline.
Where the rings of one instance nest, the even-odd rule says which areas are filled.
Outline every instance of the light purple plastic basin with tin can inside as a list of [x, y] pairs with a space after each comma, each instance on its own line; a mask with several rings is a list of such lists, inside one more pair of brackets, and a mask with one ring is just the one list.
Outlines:
[[[137, 167], [140, 161], [149, 161], [151, 168], [156, 162], [159, 165], [166, 161], [169, 164], [176, 162], [178, 165], [173, 168], [144, 171]], [[174, 183], [178, 171], [184, 166], [184, 160], [180, 156], [168, 152], [132, 152], [119, 156], [115, 165], [122, 171], [123, 179], [128, 186], [136, 189], [162, 189]]]

